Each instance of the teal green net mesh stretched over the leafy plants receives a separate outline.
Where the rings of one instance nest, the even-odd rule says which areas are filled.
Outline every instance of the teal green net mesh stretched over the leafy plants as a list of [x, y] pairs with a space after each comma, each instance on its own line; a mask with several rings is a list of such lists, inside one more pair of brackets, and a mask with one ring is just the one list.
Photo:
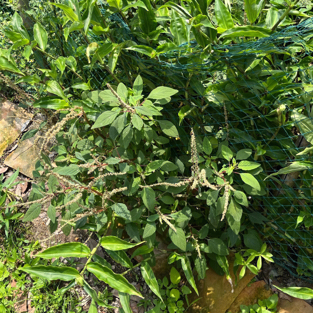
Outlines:
[[[105, 3], [100, 2], [99, 7], [105, 15]], [[19, 7], [3, 2], [0, 22], [9, 24], [7, 21], [15, 11], [23, 14], [19, 10]], [[80, 73], [86, 81], [91, 78], [94, 89], [105, 88], [107, 82], [114, 83], [103, 67], [99, 64], [92, 67], [88, 63], [88, 43], [78, 31], [70, 33], [65, 41], [59, 26], [61, 11], [58, 8], [51, 8], [39, 0], [30, 2], [29, 10], [34, 20], [40, 18], [49, 34], [47, 52], [51, 56], [74, 55], [80, 64]], [[121, 16], [112, 14], [106, 21], [116, 43], [131, 40], [140, 44]], [[88, 38], [99, 44], [106, 42], [105, 36], [97, 36], [91, 30]], [[166, 85], [180, 91], [170, 103], [163, 105], [162, 110], [179, 130], [179, 139], [168, 145], [174, 148], [172, 151], [179, 153], [189, 144], [190, 126], [194, 125], [208, 136], [213, 146], [218, 145], [218, 139], [218, 142], [228, 141], [234, 151], [243, 148], [255, 151], [254, 159], [263, 167], [259, 175], [261, 192], [249, 190], [251, 204], [245, 213], [257, 213], [251, 223], [271, 246], [275, 262], [292, 275], [310, 281], [313, 281], [312, 170], [276, 176], [277, 179], [264, 181], [264, 178], [290, 162], [310, 160], [310, 154], [297, 154], [312, 140], [312, 38], [313, 18], [308, 18], [256, 41], [215, 45], [205, 58], [196, 42], [183, 44], [154, 59], [123, 50], [124, 62], [119, 60], [115, 69], [124, 82], [129, 81], [128, 76], [134, 79], [140, 74], [147, 90]], [[9, 46], [1, 38], [0, 48]], [[214, 53], [216, 51], [218, 54]], [[14, 51], [15, 56], [22, 53], [23, 49]], [[278, 58], [278, 55], [284, 57]], [[50, 59], [34, 54], [30, 61], [37, 62], [44, 69], [49, 68]], [[24, 58], [15, 57], [15, 60], [18, 67], [32, 73]], [[241, 72], [241, 75], [235, 72]], [[68, 83], [77, 80], [70, 71], [65, 74]], [[23, 87], [33, 88], [26, 84]], [[303, 107], [303, 115], [297, 120], [298, 128], [292, 118], [293, 112], [281, 107], [291, 101], [297, 107]], [[285, 116], [284, 123], [275, 122], [280, 108]], [[249, 186], [244, 188], [249, 189]], [[308, 212], [309, 217], [305, 224], [297, 225], [301, 211]]]

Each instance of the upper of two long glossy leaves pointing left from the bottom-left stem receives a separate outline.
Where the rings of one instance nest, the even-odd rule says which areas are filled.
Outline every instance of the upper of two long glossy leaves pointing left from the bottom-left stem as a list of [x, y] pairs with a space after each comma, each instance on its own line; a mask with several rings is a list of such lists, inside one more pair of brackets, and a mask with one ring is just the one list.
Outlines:
[[43, 252], [36, 254], [43, 259], [52, 258], [84, 258], [90, 255], [90, 249], [80, 242], [67, 242], [65, 244], [58, 244], [56, 246], [45, 249]]

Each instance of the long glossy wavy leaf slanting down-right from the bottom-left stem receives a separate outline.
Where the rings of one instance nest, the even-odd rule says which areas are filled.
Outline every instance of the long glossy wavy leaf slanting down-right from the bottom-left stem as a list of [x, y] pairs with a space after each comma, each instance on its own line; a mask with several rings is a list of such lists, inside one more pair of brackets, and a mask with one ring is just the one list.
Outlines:
[[138, 297], [143, 298], [141, 293], [138, 292], [136, 288], [126, 280], [126, 278], [124, 278], [121, 274], [115, 274], [106, 266], [95, 262], [89, 262], [87, 264], [87, 270], [94, 274], [98, 279], [104, 281], [110, 287], [129, 295], [137, 295]]

